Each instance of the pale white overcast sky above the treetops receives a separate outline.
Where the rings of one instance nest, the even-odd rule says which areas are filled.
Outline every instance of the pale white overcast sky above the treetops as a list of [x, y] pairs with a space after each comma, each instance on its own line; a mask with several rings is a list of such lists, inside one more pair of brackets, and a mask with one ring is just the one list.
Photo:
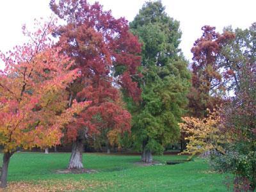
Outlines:
[[[93, 0], [89, 0], [93, 3]], [[112, 10], [115, 17], [131, 21], [145, 0], [99, 0], [104, 10]], [[166, 12], [180, 21], [182, 42], [180, 48], [191, 60], [190, 49], [196, 38], [202, 35], [205, 24], [216, 26], [217, 31], [231, 25], [248, 28], [256, 22], [256, 0], [162, 0]], [[25, 41], [22, 24], [33, 26], [33, 19], [51, 15], [48, 0], [1, 0], [0, 1], [0, 51], [6, 52]], [[3, 64], [0, 63], [0, 68]]]

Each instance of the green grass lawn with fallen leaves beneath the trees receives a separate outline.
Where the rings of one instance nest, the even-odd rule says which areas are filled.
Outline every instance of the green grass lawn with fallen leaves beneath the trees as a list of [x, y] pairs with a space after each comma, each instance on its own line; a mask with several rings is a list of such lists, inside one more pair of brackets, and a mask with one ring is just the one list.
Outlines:
[[[8, 173], [8, 191], [227, 191], [225, 176], [209, 170], [203, 159], [183, 164], [141, 166], [140, 156], [84, 154], [85, 168], [97, 173], [60, 174], [67, 153], [14, 154]], [[1, 158], [3, 155], [1, 154]], [[154, 160], [187, 156], [155, 156]]]

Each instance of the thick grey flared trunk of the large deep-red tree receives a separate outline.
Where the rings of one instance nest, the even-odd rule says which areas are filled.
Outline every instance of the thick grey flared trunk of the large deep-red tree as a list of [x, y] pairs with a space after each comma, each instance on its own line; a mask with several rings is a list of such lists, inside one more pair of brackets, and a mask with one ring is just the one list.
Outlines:
[[68, 164], [68, 169], [83, 169], [83, 140], [74, 141], [72, 146], [71, 157]]

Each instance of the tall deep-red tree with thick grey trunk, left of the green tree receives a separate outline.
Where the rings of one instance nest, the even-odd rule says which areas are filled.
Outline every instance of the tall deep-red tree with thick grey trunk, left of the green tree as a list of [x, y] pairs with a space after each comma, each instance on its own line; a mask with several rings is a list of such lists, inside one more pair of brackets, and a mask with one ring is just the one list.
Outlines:
[[99, 3], [87, 1], [52, 0], [51, 9], [67, 22], [55, 35], [60, 37], [63, 53], [75, 60], [81, 77], [70, 89], [70, 100], [92, 100], [79, 114], [76, 124], [67, 129], [67, 138], [73, 141], [68, 168], [83, 168], [83, 141], [100, 134], [102, 129], [130, 129], [131, 115], [118, 106], [119, 90], [140, 100], [140, 89], [133, 81], [140, 77], [141, 45], [129, 32], [127, 20], [115, 19], [104, 12]]

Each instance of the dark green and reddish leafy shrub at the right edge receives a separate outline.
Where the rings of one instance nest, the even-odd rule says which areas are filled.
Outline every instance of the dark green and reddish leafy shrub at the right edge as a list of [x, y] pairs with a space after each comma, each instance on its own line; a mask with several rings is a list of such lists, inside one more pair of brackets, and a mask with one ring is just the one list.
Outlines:
[[220, 134], [228, 134], [224, 154], [212, 153], [211, 164], [221, 172], [236, 176], [236, 191], [253, 191], [256, 187], [256, 65], [241, 67], [239, 89], [221, 113]]

